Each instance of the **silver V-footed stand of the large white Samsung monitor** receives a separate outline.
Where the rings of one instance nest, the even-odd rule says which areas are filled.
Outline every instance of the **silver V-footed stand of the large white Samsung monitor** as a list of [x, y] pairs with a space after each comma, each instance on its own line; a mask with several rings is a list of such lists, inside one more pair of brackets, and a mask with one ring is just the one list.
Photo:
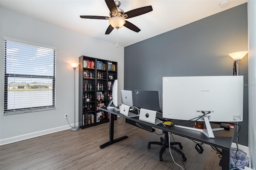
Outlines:
[[189, 130], [192, 130], [192, 131], [202, 132], [208, 138], [214, 138], [213, 131], [222, 131], [222, 130], [224, 130], [224, 128], [214, 128], [214, 129], [212, 129], [212, 127], [210, 125], [210, 121], [208, 119], [208, 116], [203, 116], [203, 118], [204, 118], [204, 122], [205, 122], [205, 125], [206, 125], [206, 129], [196, 129], [196, 128], [193, 128], [193, 127], [186, 127], [186, 126], [180, 126], [180, 125], [175, 125], [175, 127], [180, 127], [180, 128], [189, 129]]

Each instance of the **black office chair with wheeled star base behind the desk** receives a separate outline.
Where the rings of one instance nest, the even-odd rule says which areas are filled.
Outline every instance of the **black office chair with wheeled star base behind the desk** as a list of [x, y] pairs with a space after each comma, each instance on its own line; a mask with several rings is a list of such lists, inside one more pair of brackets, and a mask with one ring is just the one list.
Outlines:
[[[163, 96], [163, 94], [161, 94], [161, 96], [160, 96], [160, 105], [159, 105], [160, 111], [162, 111], [162, 108], [163, 108], [163, 107], [162, 107], [162, 104], [163, 104], [163, 102], [162, 102], [162, 96]], [[148, 148], [149, 148], [149, 149], [150, 149], [150, 145], [162, 145], [162, 149], [161, 149], [160, 152], [159, 152], [159, 160], [160, 160], [160, 161], [163, 160], [162, 154], [164, 153], [164, 150], [165, 150], [166, 148], [169, 148], [168, 132], [163, 131], [163, 133], [164, 133], [164, 138], [163, 138], [163, 137], [160, 137], [160, 142], [148, 142]], [[180, 143], [180, 142], [170, 142], [170, 149], [172, 149], [172, 150], [178, 152], [178, 154], [180, 154], [180, 156], [182, 157], [182, 160], [183, 160], [183, 161], [186, 161], [187, 158], [185, 157], [185, 154], [184, 154], [183, 152], [181, 152], [180, 150], [178, 150], [178, 149], [177, 149], [176, 147], [174, 147], [173, 145], [179, 145], [180, 149], [182, 149], [183, 146], [181, 145], [181, 143]]]

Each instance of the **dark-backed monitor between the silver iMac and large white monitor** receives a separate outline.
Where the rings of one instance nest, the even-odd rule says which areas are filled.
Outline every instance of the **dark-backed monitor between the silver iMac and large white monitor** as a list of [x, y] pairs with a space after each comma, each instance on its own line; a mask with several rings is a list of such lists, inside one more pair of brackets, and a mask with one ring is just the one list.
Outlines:
[[136, 106], [160, 111], [158, 91], [135, 90]]

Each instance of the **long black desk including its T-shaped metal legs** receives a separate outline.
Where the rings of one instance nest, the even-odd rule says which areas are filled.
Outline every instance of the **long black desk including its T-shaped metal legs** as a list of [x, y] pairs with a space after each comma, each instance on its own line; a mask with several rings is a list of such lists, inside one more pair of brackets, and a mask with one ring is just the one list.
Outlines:
[[[100, 146], [100, 148], [107, 147], [108, 145], [112, 145], [113, 143], [116, 143], [118, 141], [121, 141], [122, 139], [126, 139], [127, 136], [123, 136], [117, 139], [114, 139], [114, 115], [118, 115], [121, 117], [124, 117], [126, 119], [130, 119], [132, 121], [148, 125], [157, 129], [161, 129], [170, 133], [173, 133], [175, 135], [179, 135], [181, 137], [186, 137], [188, 139], [193, 139], [198, 142], [202, 142], [208, 145], [212, 145], [214, 147], [222, 149], [222, 170], [230, 170], [230, 147], [232, 144], [232, 139], [234, 135], [234, 129], [230, 129], [230, 131], [215, 131], [214, 136], [215, 138], [208, 138], [203, 133], [192, 131], [188, 129], [182, 129], [180, 127], [165, 127], [162, 123], [158, 125], [153, 125], [150, 123], [146, 123], [144, 121], [140, 121], [139, 117], [126, 117], [120, 113], [118, 113], [113, 108], [100, 108], [100, 110], [107, 111], [110, 113], [110, 126], [109, 126], [109, 141], [104, 143]], [[188, 125], [189, 126], [189, 125]], [[218, 128], [219, 124], [217, 123], [211, 123], [212, 128]]]

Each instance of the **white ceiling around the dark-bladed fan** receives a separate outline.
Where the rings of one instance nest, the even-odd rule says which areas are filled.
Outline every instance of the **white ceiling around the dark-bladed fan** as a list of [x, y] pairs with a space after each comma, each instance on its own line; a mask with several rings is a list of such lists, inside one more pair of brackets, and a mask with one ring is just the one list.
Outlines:
[[[247, 2], [247, 0], [229, 0], [227, 6], [220, 7], [222, 1], [120, 0], [119, 8], [124, 12], [149, 5], [152, 6], [153, 11], [127, 19], [141, 31], [136, 33], [126, 27], [118, 29], [118, 45], [126, 47]], [[116, 29], [105, 35], [109, 25], [108, 20], [80, 18], [80, 15], [109, 16], [104, 0], [0, 0], [0, 6], [116, 44]]]

